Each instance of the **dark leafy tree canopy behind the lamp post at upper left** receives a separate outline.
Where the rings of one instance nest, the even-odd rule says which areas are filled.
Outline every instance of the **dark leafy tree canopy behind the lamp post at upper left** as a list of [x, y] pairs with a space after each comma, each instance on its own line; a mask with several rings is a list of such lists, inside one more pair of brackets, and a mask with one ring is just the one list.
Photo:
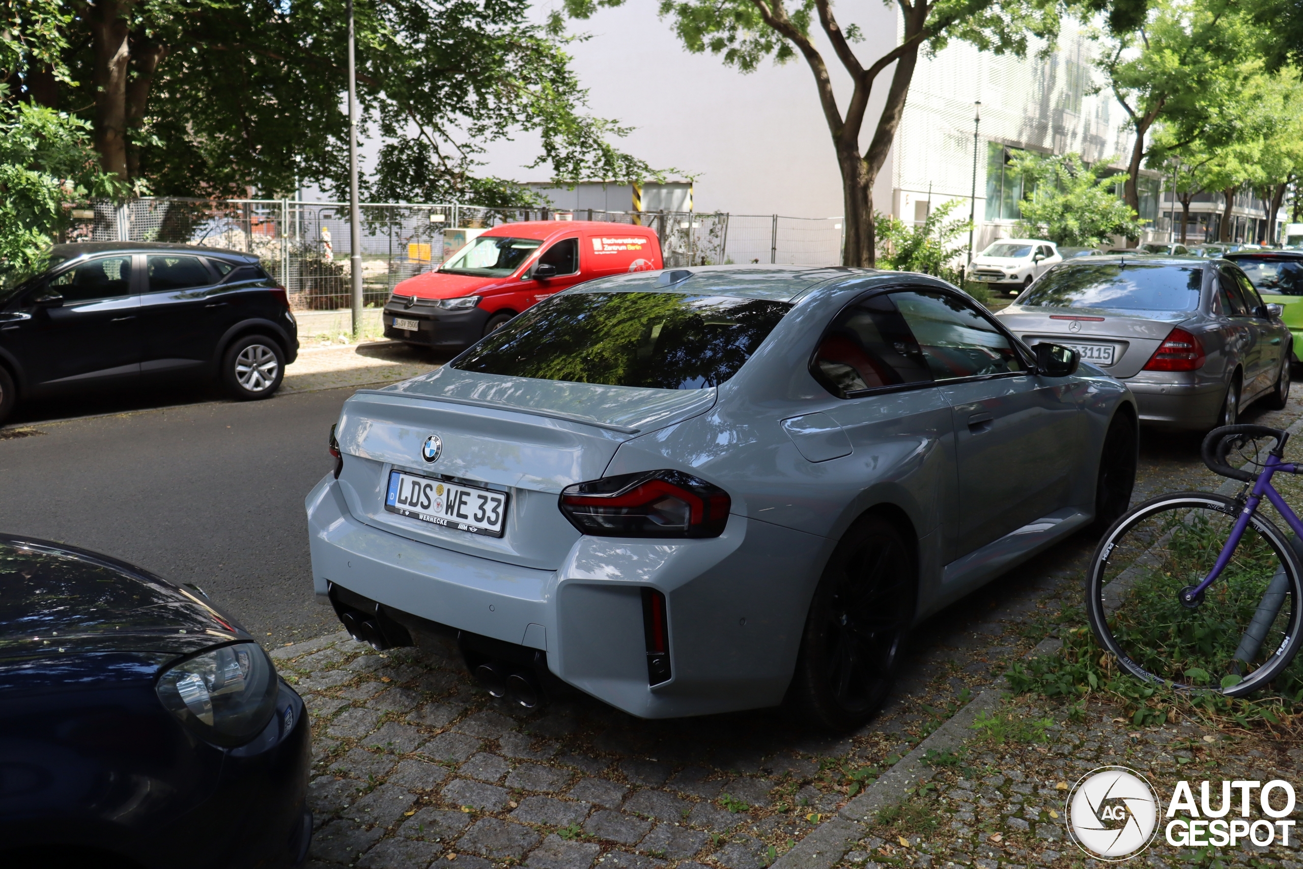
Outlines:
[[[94, 128], [106, 171], [155, 193], [347, 190], [344, 0], [74, 0], [70, 82], [46, 104]], [[357, 0], [360, 135], [379, 139], [371, 197], [521, 203], [482, 172], [486, 146], [529, 134], [554, 178], [661, 177], [586, 109], [567, 38], [528, 0]]]

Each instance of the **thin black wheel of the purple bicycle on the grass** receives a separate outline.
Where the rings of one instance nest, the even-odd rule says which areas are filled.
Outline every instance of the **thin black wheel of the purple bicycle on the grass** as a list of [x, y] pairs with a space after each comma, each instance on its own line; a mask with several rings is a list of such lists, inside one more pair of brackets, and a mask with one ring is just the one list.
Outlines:
[[1087, 618], [1132, 675], [1243, 697], [1290, 663], [1303, 567], [1264, 516], [1252, 516], [1197, 606], [1181, 601], [1217, 563], [1240, 509], [1231, 498], [1177, 492], [1140, 504], [1104, 534], [1085, 580]]

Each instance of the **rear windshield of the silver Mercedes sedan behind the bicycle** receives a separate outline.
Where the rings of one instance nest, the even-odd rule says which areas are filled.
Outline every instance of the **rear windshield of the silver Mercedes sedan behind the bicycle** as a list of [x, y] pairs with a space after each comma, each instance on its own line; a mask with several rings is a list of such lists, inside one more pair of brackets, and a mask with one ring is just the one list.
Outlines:
[[1192, 311], [1199, 307], [1203, 266], [1081, 263], [1046, 272], [1016, 304], [1024, 307], [1111, 307]]

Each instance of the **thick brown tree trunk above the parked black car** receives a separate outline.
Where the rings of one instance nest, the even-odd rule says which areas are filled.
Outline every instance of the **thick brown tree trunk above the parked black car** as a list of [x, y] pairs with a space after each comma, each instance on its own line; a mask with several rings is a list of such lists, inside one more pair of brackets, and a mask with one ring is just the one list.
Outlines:
[[90, 7], [95, 85], [95, 150], [106, 172], [126, 181], [126, 77], [132, 0], [96, 0]]

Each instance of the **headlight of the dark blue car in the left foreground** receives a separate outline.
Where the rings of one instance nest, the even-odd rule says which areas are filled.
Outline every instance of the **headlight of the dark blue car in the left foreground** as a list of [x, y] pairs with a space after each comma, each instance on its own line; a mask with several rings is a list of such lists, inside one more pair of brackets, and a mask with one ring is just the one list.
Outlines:
[[262, 646], [237, 642], [173, 664], [155, 691], [195, 736], [231, 748], [262, 732], [276, 710], [279, 688]]

